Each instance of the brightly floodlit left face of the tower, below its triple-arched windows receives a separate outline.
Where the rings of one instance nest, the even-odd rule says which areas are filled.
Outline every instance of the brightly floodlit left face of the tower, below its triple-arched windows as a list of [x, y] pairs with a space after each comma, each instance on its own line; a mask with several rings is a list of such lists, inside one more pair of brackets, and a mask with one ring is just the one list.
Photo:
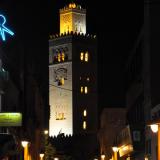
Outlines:
[[[59, 85], [57, 79], [62, 77], [64, 82]], [[61, 132], [72, 135], [72, 62], [50, 65], [49, 80], [49, 134], [56, 136]]]

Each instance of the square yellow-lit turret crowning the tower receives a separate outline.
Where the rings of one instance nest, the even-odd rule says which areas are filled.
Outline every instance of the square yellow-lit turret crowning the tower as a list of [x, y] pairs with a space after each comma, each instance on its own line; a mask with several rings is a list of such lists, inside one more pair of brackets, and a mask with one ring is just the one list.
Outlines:
[[60, 33], [71, 31], [86, 34], [86, 10], [74, 3], [60, 10]]

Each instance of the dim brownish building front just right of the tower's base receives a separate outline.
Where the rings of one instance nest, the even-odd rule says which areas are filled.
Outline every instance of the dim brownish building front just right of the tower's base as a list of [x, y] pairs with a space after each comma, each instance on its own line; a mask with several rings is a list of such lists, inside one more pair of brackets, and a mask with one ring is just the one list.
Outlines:
[[126, 109], [104, 108], [100, 117], [100, 130], [98, 139], [100, 142], [100, 154], [105, 155], [105, 159], [113, 157], [112, 147], [114, 139], [124, 128], [126, 123]]

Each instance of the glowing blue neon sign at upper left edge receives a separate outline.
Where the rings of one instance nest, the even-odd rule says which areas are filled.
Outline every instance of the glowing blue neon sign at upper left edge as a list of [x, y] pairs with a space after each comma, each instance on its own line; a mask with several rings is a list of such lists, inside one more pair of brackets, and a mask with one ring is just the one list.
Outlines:
[[6, 18], [0, 14], [0, 36], [2, 37], [3, 41], [6, 40], [5, 32], [10, 34], [11, 36], [14, 35], [14, 33], [10, 29], [5, 27], [5, 23], [6, 23]]

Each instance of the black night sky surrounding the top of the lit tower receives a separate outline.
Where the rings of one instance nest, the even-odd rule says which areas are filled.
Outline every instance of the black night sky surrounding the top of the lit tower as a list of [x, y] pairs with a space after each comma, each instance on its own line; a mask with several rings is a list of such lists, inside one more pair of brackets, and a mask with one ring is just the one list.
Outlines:
[[[143, 23], [143, 1], [74, 1], [87, 9], [87, 33], [96, 34], [98, 38], [99, 105], [123, 107], [125, 62]], [[47, 81], [48, 35], [59, 33], [59, 8], [69, 2], [71, 0], [48, 0], [48, 3], [43, 0], [35, 4], [0, 1], [0, 13], [6, 15], [16, 33], [14, 39], [2, 44], [4, 50], [7, 48], [9, 59], [15, 60], [13, 65], [8, 63], [10, 70], [16, 71], [17, 56], [23, 51], [30, 59], [28, 63], [35, 62], [40, 81]]]

